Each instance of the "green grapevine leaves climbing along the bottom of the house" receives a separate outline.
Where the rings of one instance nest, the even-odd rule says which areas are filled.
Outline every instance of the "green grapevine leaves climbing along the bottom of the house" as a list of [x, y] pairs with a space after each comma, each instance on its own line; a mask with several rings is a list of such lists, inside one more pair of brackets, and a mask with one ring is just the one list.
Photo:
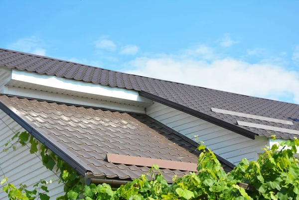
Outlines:
[[[198, 173], [190, 173], [178, 179], [173, 177], [173, 183], [168, 185], [158, 166], [153, 166], [147, 175], [142, 175], [117, 190], [108, 184], [83, 187], [79, 175], [52, 152], [37, 141], [32, 148], [32, 137], [25, 134], [19, 137], [20, 143], [28, 140], [31, 153], [36, 153], [38, 148], [35, 146], [40, 146], [42, 160], [48, 169], [53, 170], [56, 166], [60, 170], [66, 192], [60, 200], [77, 200], [81, 196], [85, 200], [299, 200], [299, 161], [294, 157], [299, 146], [297, 138], [280, 143], [283, 148], [276, 144], [271, 149], [266, 147], [258, 161], [249, 163], [242, 159], [227, 174], [214, 153], [200, 145]], [[238, 183], [248, 184], [251, 189], [245, 190]], [[8, 187], [6, 191], [13, 190], [15, 188]], [[11, 194], [16, 193], [19, 200], [23, 200], [22, 191], [24, 190], [21, 193], [13, 191]], [[9, 192], [6, 193], [9, 195]]]

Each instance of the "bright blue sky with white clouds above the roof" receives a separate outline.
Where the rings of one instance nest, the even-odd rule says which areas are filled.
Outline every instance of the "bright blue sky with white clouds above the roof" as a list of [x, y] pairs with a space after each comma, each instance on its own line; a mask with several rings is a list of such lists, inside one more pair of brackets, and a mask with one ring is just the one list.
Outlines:
[[0, 0], [0, 47], [299, 103], [299, 0]]

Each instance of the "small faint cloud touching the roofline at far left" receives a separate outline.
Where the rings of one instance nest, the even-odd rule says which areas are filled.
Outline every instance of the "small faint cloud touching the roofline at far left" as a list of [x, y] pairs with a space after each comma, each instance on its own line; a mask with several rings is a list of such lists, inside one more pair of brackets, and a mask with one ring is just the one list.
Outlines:
[[44, 44], [42, 40], [38, 39], [35, 36], [31, 36], [21, 38], [15, 42], [8, 44], [7, 49], [45, 56], [46, 50], [42, 48], [43, 46]]

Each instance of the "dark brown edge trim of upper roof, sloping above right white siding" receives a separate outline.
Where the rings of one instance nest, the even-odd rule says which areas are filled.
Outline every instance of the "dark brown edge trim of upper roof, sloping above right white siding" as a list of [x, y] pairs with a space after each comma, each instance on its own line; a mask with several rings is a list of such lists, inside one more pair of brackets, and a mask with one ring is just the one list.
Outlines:
[[249, 130], [246, 130], [246, 129], [242, 128], [242, 127], [239, 127], [239, 126], [236, 126], [234, 124], [228, 123], [226, 121], [223, 121], [223, 120], [218, 119], [216, 117], [210, 116], [210, 115], [205, 114], [203, 112], [196, 111], [196, 110], [194, 110], [192, 108], [186, 107], [184, 105], [181, 105], [179, 103], [173, 102], [171, 100], [166, 100], [166, 99], [161, 98], [159, 96], [152, 95], [152, 94], [150, 94], [148, 92], [140, 91], [139, 94], [142, 97], [148, 98], [150, 100], [154, 100], [156, 102], [162, 103], [162, 104], [167, 105], [169, 107], [172, 107], [172, 108], [175, 108], [177, 110], [183, 111], [183, 112], [185, 112], [187, 114], [190, 114], [190, 115], [193, 115], [193, 116], [198, 117], [200, 119], [203, 119], [205, 121], [211, 122], [213, 124], [216, 124], [218, 126], [226, 128], [228, 130], [231, 130], [231, 131], [233, 131], [235, 133], [238, 133], [240, 135], [248, 137], [250, 139], [254, 140], [255, 136], [258, 135], [256, 133], [254, 133], [252, 131], [249, 131]]

